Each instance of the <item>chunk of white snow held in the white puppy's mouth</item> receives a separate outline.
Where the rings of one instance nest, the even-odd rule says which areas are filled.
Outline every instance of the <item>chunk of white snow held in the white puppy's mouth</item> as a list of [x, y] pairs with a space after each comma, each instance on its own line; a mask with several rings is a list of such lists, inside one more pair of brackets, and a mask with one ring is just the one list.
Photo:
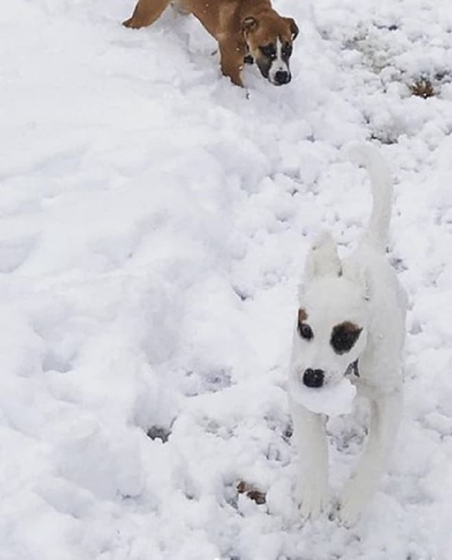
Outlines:
[[290, 379], [288, 386], [291, 398], [312, 412], [334, 417], [353, 411], [356, 387], [349, 378], [344, 377], [334, 385], [319, 389], [306, 387], [303, 383], [294, 382], [294, 379]]

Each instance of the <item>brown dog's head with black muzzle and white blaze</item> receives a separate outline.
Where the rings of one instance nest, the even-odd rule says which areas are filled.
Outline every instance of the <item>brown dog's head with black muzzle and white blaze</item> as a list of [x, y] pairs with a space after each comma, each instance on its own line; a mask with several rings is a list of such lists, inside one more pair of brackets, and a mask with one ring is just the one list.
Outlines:
[[271, 10], [244, 18], [242, 33], [261, 74], [275, 86], [288, 84], [292, 77], [289, 67], [292, 42], [298, 35], [294, 20]]

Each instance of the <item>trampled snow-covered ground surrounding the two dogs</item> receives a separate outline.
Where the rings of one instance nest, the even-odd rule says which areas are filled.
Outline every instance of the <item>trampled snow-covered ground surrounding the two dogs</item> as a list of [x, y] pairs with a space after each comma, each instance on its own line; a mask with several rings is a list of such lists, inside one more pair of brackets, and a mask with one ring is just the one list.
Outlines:
[[[192, 18], [3, 4], [0, 559], [450, 560], [450, 1], [275, 0], [301, 30], [293, 80], [248, 68], [249, 99]], [[410, 95], [421, 77], [434, 97]], [[340, 151], [365, 138], [395, 179], [403, 424], [359, 524], [301, 526], [297, 283], [319, 230], [347, 253], [366, 223]], [[329, 429], [334, 495], [364, 429]]]

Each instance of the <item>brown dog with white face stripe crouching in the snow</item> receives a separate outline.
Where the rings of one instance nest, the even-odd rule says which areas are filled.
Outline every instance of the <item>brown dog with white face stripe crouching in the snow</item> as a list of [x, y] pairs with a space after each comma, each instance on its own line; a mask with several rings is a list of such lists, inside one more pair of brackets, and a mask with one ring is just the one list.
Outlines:
[[245, 59], [255, 60], [262, 75], [275, 86], [290, 82], [289, 59], [298, 27], [292, 18], [277, 14], [269, 0], [138, 0], [124, 25], [151, 25], [170, 3], [193, 14], [216, 38], [221, 71], [234, 84], [243, 86], [240, 71]]

